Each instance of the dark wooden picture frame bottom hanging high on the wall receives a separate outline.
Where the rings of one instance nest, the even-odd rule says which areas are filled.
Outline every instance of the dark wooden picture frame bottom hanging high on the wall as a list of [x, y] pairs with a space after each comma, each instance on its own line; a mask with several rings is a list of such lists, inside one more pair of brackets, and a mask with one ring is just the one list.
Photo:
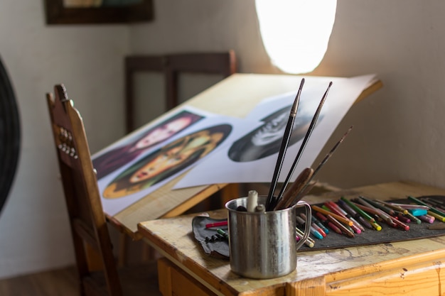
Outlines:
[[48, 25], [153, 20], [153, 0], [45, 0]]

